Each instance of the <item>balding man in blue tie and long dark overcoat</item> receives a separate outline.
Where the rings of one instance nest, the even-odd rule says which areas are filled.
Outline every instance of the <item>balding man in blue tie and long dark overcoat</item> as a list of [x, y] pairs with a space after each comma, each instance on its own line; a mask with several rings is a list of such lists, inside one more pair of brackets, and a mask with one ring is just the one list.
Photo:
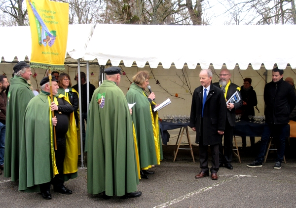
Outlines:
[[223, 92], [213, 85], [212, 77], [210, 69], [201, 70], [199, 74], [201, 85], [193, 92], [189, 126], [196, 131], [195, 142], [199, 144], [201, 171], [195, 178], [209, 176], [208, 145], [210, 145], [212, 153], [211, 178], [217, 180], [219, 143], [225, 129], [226, 103]]

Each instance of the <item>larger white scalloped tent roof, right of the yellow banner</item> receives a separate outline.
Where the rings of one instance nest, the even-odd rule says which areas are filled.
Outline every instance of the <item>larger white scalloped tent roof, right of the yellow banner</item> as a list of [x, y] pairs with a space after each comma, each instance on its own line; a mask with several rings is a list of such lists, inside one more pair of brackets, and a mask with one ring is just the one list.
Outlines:
[[276, 63], [285, 69], [296, 68], [296, 25], [240, 26], [163, 26], [163, 25], [96, 25], [87, 45], [84, 60], [108, 60], [113, 66], [138, 67], [148, 62], [157, 68], [161, 62], [168, 69], [172, 63], [181, 69], [208, 68], [212, 63], [221, 69], [239, 64], [240, 69], [259, 69], [261, 64], [272, 69]]

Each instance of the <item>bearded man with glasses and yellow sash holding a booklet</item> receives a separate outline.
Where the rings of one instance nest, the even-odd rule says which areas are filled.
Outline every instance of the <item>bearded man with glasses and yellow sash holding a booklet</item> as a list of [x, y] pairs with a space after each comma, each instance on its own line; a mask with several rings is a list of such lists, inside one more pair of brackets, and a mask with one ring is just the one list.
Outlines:
[[[214, 83], [224, 92], [225, 102], [235, 93], [235, 91], [240, 91], [240, 87], [230, 81], [231, 74], [228, 69], [222, 69], [219, 75], [219, 83]], [[223, 164], [228, 169], [233, 169], [231, 165], [232, 162], [232, 139], [233, 139], [233, 127], [235, 125], [235, 110], [243, 105], [243, 101], [240, 100], [237, 103], [227, 103], [227, 119], [225, 124], [224, 132], [224, 148], [221, 142], [219, 144], [219, 166], [222, 167]], [[224, 151], [223, 151], [224, 150]]]

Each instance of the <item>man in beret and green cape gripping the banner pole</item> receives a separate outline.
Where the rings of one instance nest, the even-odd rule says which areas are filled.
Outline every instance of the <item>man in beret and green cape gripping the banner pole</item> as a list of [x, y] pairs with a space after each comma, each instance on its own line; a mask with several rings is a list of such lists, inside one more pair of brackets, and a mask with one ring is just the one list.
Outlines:
[[[73, 107], [66, 96], [58, 94], [57, 82], [52, 77], [54, 101], [51, 102], [49, 79], [42, 79], [40, 94], [26, 108], [21, 136], [19, 190], [40, 190], [44, 199], [51, 199], [50, 184], [55, 192], [72, 194], [64, 181], [76, 177], [78, 170]], [[53, 126], [57, 150], [54, 150]]]

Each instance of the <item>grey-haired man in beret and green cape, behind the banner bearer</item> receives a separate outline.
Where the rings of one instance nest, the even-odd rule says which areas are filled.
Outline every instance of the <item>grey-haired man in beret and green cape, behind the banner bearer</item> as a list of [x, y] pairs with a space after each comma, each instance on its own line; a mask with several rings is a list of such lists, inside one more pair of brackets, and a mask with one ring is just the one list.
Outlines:
[[4, 176], [16, 181], [19, 178], [19, 139], [24, 113], [34, 93], [27, 82], [32, 75], [30, 65], [20, 61], [13, 67], [13, 71], [14, 77], [10, 79], [7, 94]]

